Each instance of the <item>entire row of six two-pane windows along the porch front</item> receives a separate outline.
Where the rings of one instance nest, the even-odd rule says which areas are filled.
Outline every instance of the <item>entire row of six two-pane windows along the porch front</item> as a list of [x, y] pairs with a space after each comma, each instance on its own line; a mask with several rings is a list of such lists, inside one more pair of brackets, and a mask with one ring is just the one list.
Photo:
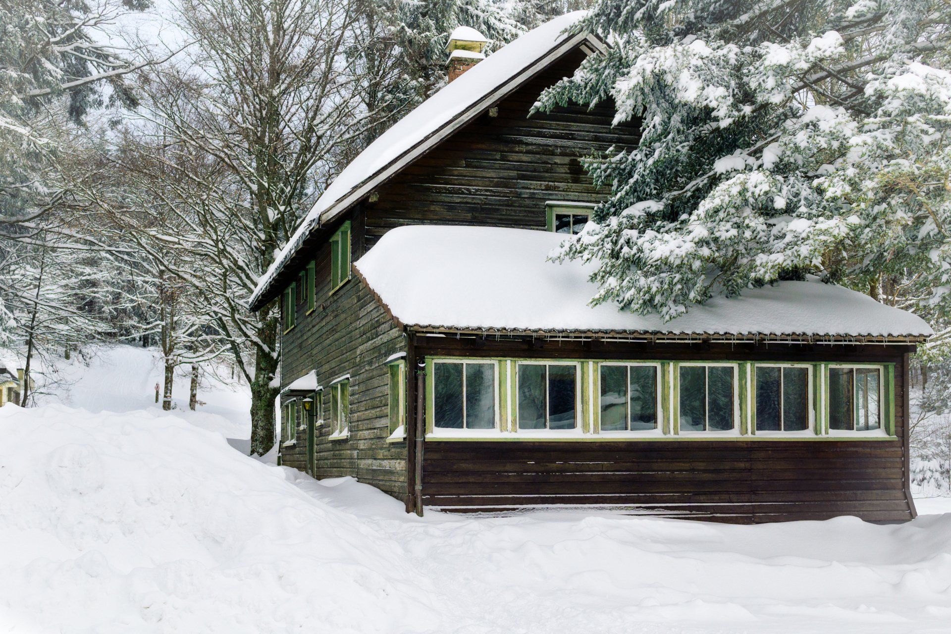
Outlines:
[[[817, 400], [825, 414], [821, 432], [867, 432], [883, 428], [886, 388], [893, 391], [886, 386], [891, 375], [884, 365], [753, 363], [748, 364], [747, 385], [741, 381], [747, 364], [741, 363], [597, 362], [593, 376], [585, 377], [590, 385], [585, 385], [581, 373], [586, 363], [435, 360], [430, 365], [431, 428], [498, 429], [504, 397], [511, 431], [578, 430], [581, 401], [587, 397], [600, 432], [736, 432], [743, 406], [754, 433], [807, 432], [817, 429]], [[500, 364], [507, 374], [514, 373], [503, 379], [501, 394]], [[670, 374], [664, 365], [670, 366]], [[824, 378], [821, 393], [814, 387], [817, 373]], [[661, 389], [665, 380], [672, 397], [665, 398]], [[747, 399], [743, 404], [741, 382]], [[675, 424], [663, 428], [665, 417]]]

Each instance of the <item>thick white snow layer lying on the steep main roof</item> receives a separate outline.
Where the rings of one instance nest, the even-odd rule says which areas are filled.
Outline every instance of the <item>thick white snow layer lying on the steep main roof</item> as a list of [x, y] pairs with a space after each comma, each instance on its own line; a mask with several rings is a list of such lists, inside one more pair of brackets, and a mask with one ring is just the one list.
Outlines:
[[277, 272], [297, 251], [302, 240], [314, 227], [343, 209], [337, 203], [344, 202], [355, 189], [377, 178], [391, 163], [417, 151], [439, 130], [472, 110], [527, 68], [533, 67], [554, 48], [569, 39], [565, 30], [573, 27], [584, 15], [585, 11], [574, 11], [554, 18], [499, 48], [485, 61], [467, 70], [453, 83], [443, 86], [436, 94], [379, 135], [320, 195], [320, 199], [301, 221], [291, 240], [288, 240], [274, 263], [259, 280], [249, 303], [253, 305], [262, 296]]

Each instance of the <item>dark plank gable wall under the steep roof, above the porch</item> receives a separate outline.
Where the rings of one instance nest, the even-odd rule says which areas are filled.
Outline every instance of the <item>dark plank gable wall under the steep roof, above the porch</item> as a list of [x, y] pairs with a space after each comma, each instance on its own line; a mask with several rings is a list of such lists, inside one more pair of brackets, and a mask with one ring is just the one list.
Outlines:
[[613, 106], [559, 107], [529, 117], [541, 91], [583, 59], [569, 53], [378, 189], [366, 203], [372, 246], [403, 224], [483, 224], [545, 228], [546, 201], [600, 202], [580, 159], [637, 143], [635, 125], [611, 127]]

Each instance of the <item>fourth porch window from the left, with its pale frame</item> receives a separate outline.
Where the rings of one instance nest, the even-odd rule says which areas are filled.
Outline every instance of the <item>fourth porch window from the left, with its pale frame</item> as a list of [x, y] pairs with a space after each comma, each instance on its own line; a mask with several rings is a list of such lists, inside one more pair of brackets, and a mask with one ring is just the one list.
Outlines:
[[[729, 369], [729, 380], [730, 380], [730, 393], [729, 393], [729, 422], [730, 426], [728, 428], [710, 428], [711, 422], [711, 413], [716, 415], [718, 411], [724, 409], [724, 402], [721, 397], [717, 397], [714, 394], [714, 400], [710, 400], [710, 385], [711, 382], [715, 386], [722, 385], [723, 380], [726, 378], [727, 374], [722, 372], [722, 368]], [[699, 400], [691, 402], [692, 396], [696, 393], [691, 390], [689, 385], [690, 380], [700, 380], [701, 373], [698, 370], [702, 369], [702, 381], [703, 381], [703, 396]], [[711, 374], [710, 370], [713, 370]], [[686, 375], [693, 375], [692, 378]], [[739, 400], [739, 364], [738, 363], [723, 363], [723, 362], [707, 362], [707, 361], [688, 361], [677, 363], [676, 371], [674, 373], [674, 380], [676, 385], [676, 398], [675, 406], [677, 408], [676, 415], [676, 428], [675, 433], [678, 435], [734, 435], [740, 432], [740, 400]], [[702, 429], [685, 429], [685, 412], [688, 409], [693, 409], [690, 406], [695, 406], [697, 409], [697, 414], [699, 414], [701, 419]], [[692, 419], [692, 416], [691, 416]], [[690, 421], [692, 423], [692, 420]]]

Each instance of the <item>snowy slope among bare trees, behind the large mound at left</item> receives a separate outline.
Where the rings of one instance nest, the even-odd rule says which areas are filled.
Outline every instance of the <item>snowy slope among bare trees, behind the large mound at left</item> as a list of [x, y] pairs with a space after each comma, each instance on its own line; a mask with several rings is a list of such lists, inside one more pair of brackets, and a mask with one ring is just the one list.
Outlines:
[[[156, 349], [94, 346], [87, 348], [84, 354], [87, 361], [80, 355], [58, 360], [46, 385], [41, 381], [40, 392], [47, 394], [37, 395], [38, 404], [60, 403], [89, 412], [154, 410], [153, 415], [167, 414], [155, 403], [155, 384], [161, 389], [165, 372]], [[226, 373], [223, 367], [219, 371]], [[228, 381], [228, 375], [219, 377], [207, 372], [198, 392], [198, 399], [204, 404], [192, 412], [188, 409], [188, 372], [188, 366], [176, 372], [172, 383], [176, 410], [172, 413], [228, 438], [250, 438], [251, 394], [243, 381], [237, 378]]]

